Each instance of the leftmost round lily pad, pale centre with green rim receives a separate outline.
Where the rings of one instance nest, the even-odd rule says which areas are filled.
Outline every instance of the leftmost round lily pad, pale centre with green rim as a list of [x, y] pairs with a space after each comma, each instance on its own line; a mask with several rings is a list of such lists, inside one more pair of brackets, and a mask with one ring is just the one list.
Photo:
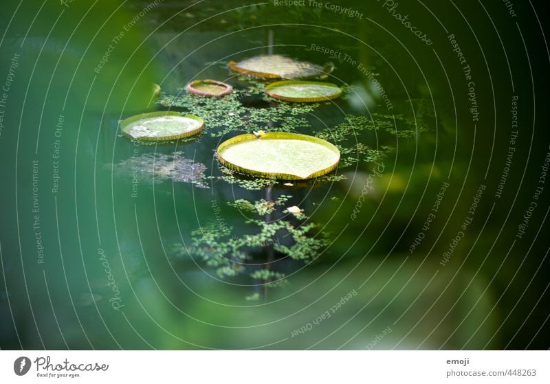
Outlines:
[[139, 140], [175, 140], [196, 135], [202, 131], [200, 117], [173, 111], [142, 113], [122, 120], [122, 132]]

